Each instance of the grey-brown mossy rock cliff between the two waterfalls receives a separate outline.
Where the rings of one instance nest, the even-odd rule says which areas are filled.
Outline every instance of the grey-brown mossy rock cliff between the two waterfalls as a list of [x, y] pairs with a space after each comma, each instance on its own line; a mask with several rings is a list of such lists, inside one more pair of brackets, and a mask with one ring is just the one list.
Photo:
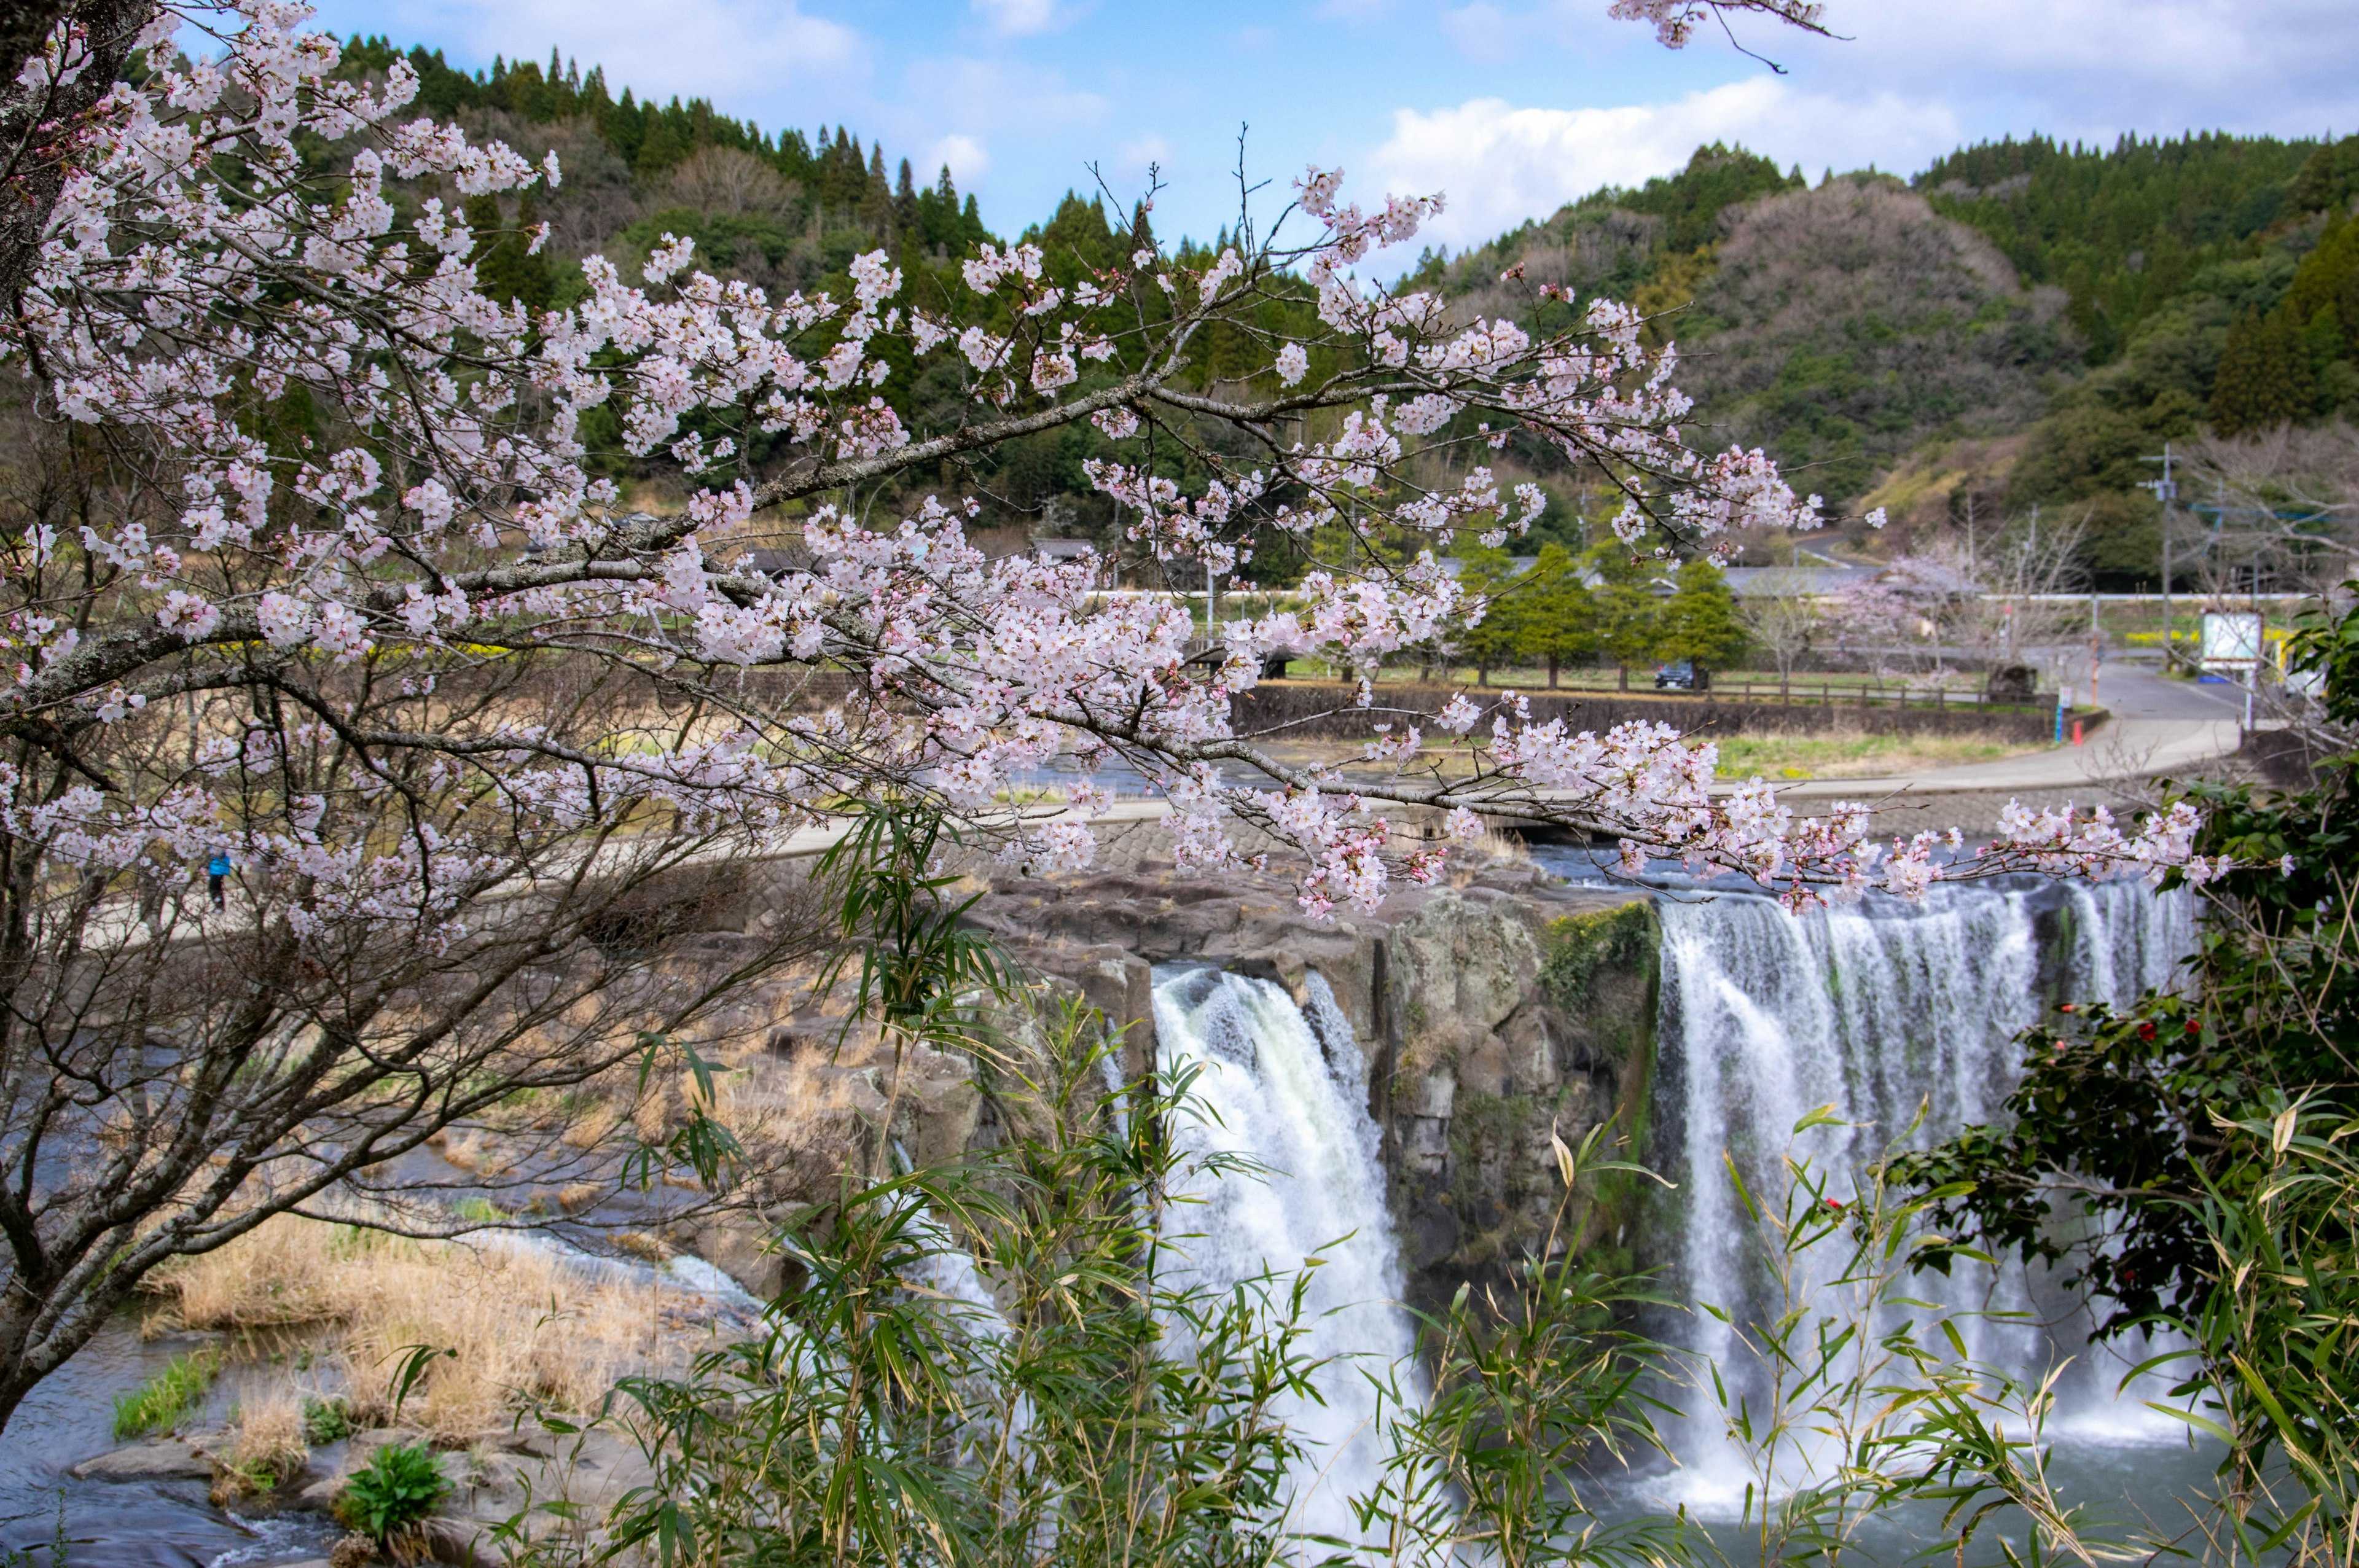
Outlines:
[[[1649, 1122], [1656, 917], [1644, 894], [1569, 889], [1505, 865], [1397, 894], [1378, 915], [1305, 920], [1262, 877], [1135, 872], [1007, 882], [977, 905], [1026, 964], [1071, 981], [1154, 1049], [1151, 967], [1210, 962], [1288, 986], [1321, 974], [1366, 1052], [1411, 1302], [1446, 1302], [1545, 1245], [1576, 1144]], [[1581, 1205], [1583, 1240], [1618, 1245], [1618, 1193]]]

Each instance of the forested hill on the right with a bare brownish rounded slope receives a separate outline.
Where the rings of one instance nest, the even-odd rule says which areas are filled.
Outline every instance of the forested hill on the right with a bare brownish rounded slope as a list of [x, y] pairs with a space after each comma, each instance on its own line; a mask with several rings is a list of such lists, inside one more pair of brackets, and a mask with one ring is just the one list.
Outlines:
[[2359, 415], [2354, 196], [2359, 137], [2005, 139], [1819, 186], [1706, 146], [1415, 276], [1493, 304], [1524, 262], [1668, 311], [1717, 434], [1916, 531], [2071, 507], [2130, 585], [2163, 441]]

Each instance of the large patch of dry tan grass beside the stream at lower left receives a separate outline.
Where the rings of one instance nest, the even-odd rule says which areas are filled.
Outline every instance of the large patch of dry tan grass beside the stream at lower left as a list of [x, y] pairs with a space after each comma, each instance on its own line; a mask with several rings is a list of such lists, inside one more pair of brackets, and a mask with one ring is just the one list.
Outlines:
[[186, 1327], [326, 1327], [354, 1408], [377, 1417], [410, 1346], [458, 1351], [401, 1410], [453, 1443], [502, 1429], [521, 1398], [587, 1410], [618, 1377], [677, 1365], [696, 1342], [679, 1297], [653, 1285], [587, 1280], [502, 1243], [418, 1243], [295, 1217], [179, 1259], [160, 1285]]

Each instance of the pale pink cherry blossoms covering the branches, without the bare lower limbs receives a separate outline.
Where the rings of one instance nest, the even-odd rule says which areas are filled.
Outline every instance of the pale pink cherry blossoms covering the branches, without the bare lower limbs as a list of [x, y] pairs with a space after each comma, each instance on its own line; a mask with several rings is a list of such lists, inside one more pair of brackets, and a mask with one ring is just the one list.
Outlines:
[[[1616, 9], [1677, 42], [1706, 7]], [[1786, 0], [1753, 9], [1814, 19]], [[1757, 780], [1717, 785], [1708, 745], [1647, 724], [1597, 736], [1533, 722], [1512, 693], [1484, 733], [1463, 693], [1441, 714], [1401, 714], [1361, 681], [1368, 757], [1397, 773], [1352, 790], [1238, 733], [1234, 698], [1264, 655], [1371, 670], [1465, 613], [1441, 568], [1456, 535], [1505, 542], [1545, 505], [1491, 467], [1510, 436], [1602, 476], [1632, 549], [1724, 554], [1736, 531], [1819, 523], [1816, 498], [1795, 495], [1760, 450], [1698, 450], [1677, 354], [1642, 340], [1637, 311], [1592, 302], [1571, 328], [1543, 330], [1361, 278], [1375, 250], [1444, 210], [1439, 193], [1361, 205], [1345, 200], [1340, 170], [1309, 170], [1279, 222], [1248, 229], [1250, 245], [1191, 269], [1139, 243], [1128, 269], [1071, 285], [1038, 245], [984, 243], [958, 262], [972, 309], [944, 307], [939, 290], [918, 309], [920, 290], [885, 252], [854, 257], [842, 295], [771, 297], [663, 236], [637, 281], [585, 257], [580, 297], [526, 318], [481, 292], [467, 257], [484, 236], [458, 215], [472, 196], [554, 186], [554, 158], [535, 165], [410, 113], [418, 83], [401, 61], [377, 87], [337, 80], [342, 50], [304, 31], [300, 5], [191, 14], [219, 24], [224, 52], [179, 54], [167, 28], [149, 78], [109, 90], [73, 141], [21, 309], [0, 323], [0, 361], [42, 377], [64, 420], [149, 453], [151, 490], [172, 498], [149, 519], [94, 519], [64, 545], [9, 547], [17, 681], [0, 700], [17, 722], [123, 722], [208, 681], [278, 681], [321, 705], [302, 722], [321, 724], [307, 743], [326, 745], [356, 722], [314, 691], [337, 672], [368, 670], [422, 700], [484, 658], [564, 658], [653, 684], [701, 726], [594, 752], [514, 714], [436, 729], [427, 705], [387, 719], [370, 745], [427, 757], [441, 780], [477, 778], [550, 832], [583, 830], [616, 799], [769, 832], [885, 785], [932, 792], [1040, 870], [1085, 865], [1090, 830], [1017, 818], [1010, 783], [1062, 752], [1121, 757], [1156, 780], [1182, 868], [1257, 863], [1236, 846], [1250, 825], [1286, 846], [1314, 913], [1373, 905], [1394, 875], [1439, 875], [1446, 846], [1394, 844], [1387, 809], [1439, 811], [1456, 842], [1486, 806], [1510, 806], [1618, 839], [1630, 865], [1682, 858], [1795, 901], [1916, 896], [1993, 870], [2220, 870], [2194, 854], [2187, 806], [2135, 830], [2102, 811], [2010, 809], [1977, 856], [1937, 858], [1925, 839], [1887, 849], [1864, 809], [1795, 818]], [[75, 50], [59, 35], [28, 64], [35, 83], [78, 71]], [[396, 196], [415, 212], [408, 231]], [[1109, 325], [1135, 297], [1163, 316]], [[1182, 375], [1215, 323], [1260, 344], [1217, 398]], [[906, 396], [894, 365], [913, 358], [958, 387], [951, 417]], [[297, 389], [321, 429], [344, 431], [321, 450], [290, 448], [257, 417], [255, 394]], [[627, 453], [682, 481], [677, 512], [623, 509], [585, 448], [594, 410]], [[981, 500], [870, 514], [878, 493], [1038, 431], [1090, 424], [1130, 443], [1198, 422], [1238, 439], [1198, 448], [1187, 486], [1146, 443], [1085, 465], [1128, 538], [1177, 578], [1234, 575], [1272, 533], [1302, 547], [1328, 528], [1387, 542], [1330, 552], [1302, 578], [1297, 611], [1227, 625], [1208, 660], [1189, 658], [1187, 608], [1104, 594], [1095, 561], [977, 549], [972, 526], [1007, 521], [986, 519]], [[762, 472], [745, 467], [757, 450]], [[61, 552], [75, 582], [85, 564], [106, 573], [104, 592], [64, 604], [85, 589], [61, 587]], [[774, 700], [755, 670], [781, 672], [788, 691], [826, 672], [847, 691]], [[1420, 771], [1427, 733], [1460, 766]], [[191, 780], [146, 795], [83, 783], [45, 806], [7, 804], [9, 830], [59, 858], [106, 861], [139, 835], [193, 854], [238, 771], [285, 745], [271, 736], [210, 733]], [[356, 785], [387, 788], [375, 773]], [[1073, 792], [1078, 813], [1099, 804]], [[321, 889], [302, 905], [311, 931], [446, 920], [458, 908], [446, 889], [498, 875], [465, 811], [399, 849], [351, 811], [285, 811], [267, 849]]]

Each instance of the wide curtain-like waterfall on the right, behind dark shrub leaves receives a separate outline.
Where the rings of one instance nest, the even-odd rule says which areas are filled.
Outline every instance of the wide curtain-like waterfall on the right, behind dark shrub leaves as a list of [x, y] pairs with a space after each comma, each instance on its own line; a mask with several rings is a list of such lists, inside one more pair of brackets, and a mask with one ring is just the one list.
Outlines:
[[[1691, 1306], [1717, 1306], [1739, 1323], [1767, 1320], [1779, 1302], [1732, 1167], [1753, 1193], [1781, 1191], [1793, 1125], [1833, 1106], [1857, 1127], [1819, 1127], [1795, 1141], [1795, 1153], [1831, 1172], [1831, 1191], [1847, 1195], [1849, 1172], [1908, 1134], [1920, 1106], [1925, 1120], [1908, 1134], [1920, 1146], [1998, 1115], [2019, 1066], [2015, 1035], [2033, 1023], [2045, 988], [2130, 1002], [2170, 983], [2194, 946], [2184, 894], [2128, 882], [1946, 887], [1920, 905], [1871, 898], [1800, 917], [1760, 896], [1670, 894], [1661, 910], [1656, 1106], [1658, 1148], [1668, 1144], [1668, 1153], [1656, 1162], [1677, 1181], [1677, 1226], [1670, 1257], [1654, 1261]], [[2043, 941], [2043, 922], [2057, 938]], [[2024, 1313], [2015, 1323], [1967, 1318], [1960, 1327], [1972, 1356], [2026, 1372], [2083, 1353], [2078, 1335], [2050, 1339], [2036, 1323], [2050, 1306], [2036, 1287], [2019, 1266], [1958, 1266], [1911, 1285], [1934, 1311]], [[1698, 1365], [1720, 1370], [1732, 1396], [1760, 1410], [1760, 1370], [1729, 1323], [1687, 1311], [1675, 1335]], [[2090, 1361], [2083, 1356], [2083, 1365]], [[2078, 1434], [2137, 1438], [2163, 1422], [2142, 1410], [2111, 1412], [2109, 1389], [2095, 1368], [2078, 1379]], [[1668, 1490], [1703, 1511], [1729, 1509], [1753, 1469], [1732, 1448], [1708, 1389], [1691, 1389], [1684, 1403], [1670, 1434], [1682, 1469]]]

